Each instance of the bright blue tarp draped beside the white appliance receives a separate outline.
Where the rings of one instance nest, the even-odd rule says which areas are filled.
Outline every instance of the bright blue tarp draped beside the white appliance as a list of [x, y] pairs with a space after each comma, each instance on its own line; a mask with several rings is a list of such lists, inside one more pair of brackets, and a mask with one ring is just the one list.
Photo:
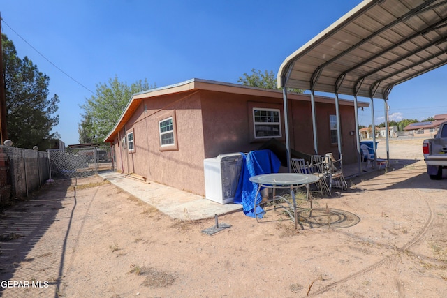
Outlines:
[[[244, 158], [242, 159], [242, 169], [234, 202], [235, 204], [242, 204], [245, 215], [254, 217], [254, 198], [256, 191], [258, 191], [258, 184], [249, 181], [249, 178], [261, 174], [277, 173], [281, 166], [281, 161], [268, 149], [250, 151], [247, 156], [245, 154], [242, 154], [242, 156]], [[261, 200], [261, 193], [258, 193], [256, 202], [259, 203]], [[263, 209], [258, 207], [256, 213], [261, 212], [263, 212]]]

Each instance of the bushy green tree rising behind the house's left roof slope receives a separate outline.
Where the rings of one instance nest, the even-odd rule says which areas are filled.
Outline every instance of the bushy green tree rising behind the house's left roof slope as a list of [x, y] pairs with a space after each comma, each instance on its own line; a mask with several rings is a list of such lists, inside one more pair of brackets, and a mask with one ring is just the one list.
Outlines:
[[96, 95], [81, 105], [84, 114], [81, 114], [82, 120], [78, 124], [79, 142], [102, 144], [132, 95], [154, 87], [147, 80], [139, 80], [129, 86], [126, 82], [119, 82], [117, 75], [108, 84], [96, 84]]

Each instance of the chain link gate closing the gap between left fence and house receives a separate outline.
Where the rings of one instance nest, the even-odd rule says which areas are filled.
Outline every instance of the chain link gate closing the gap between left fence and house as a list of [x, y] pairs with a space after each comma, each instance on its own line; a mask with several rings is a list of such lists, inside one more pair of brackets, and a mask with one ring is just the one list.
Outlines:
[[48, 159], [51, 179], [89, 177], [113, 170], [110, 147], [48, 150]]

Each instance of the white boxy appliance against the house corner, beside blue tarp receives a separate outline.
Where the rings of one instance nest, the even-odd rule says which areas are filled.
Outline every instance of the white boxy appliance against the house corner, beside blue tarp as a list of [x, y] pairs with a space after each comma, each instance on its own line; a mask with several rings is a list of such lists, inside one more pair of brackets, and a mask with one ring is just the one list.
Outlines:
[[203, 160], [205, 197], [220, 204], [234, 201], [242, 168], [240, 153], [220, 154]]

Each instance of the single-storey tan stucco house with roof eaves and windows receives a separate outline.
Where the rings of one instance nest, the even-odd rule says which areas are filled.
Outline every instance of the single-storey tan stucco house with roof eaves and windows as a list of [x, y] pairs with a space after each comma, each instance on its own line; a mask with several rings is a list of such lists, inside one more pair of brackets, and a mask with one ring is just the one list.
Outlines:
[[[368, 107], [359, 103], [359, 107]], [[355, 163], [354, 105], [339, 104], [344, 163]], [[314, 154], [311, 100], [288, 94], [291, 148]], [[335, 100], [316, 96], [319, 153], [337, 152]], [[203, 160], [284, 142], [279, 90], [193, 79], [134, 94], [105, 142], [117, 170], [205, 195]]]

